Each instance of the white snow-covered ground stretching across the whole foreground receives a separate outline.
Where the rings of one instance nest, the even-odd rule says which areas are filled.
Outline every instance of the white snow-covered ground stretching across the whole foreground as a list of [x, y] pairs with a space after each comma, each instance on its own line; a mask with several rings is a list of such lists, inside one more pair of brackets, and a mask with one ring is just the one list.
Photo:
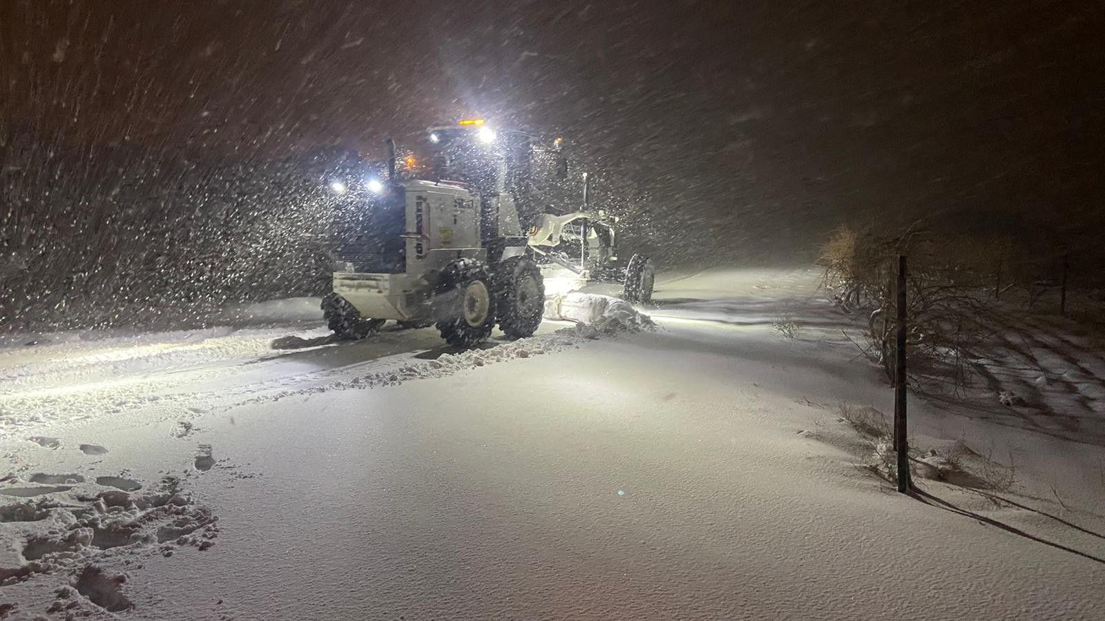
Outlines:
[[1099, 619], [1092, 344], [1041, 324], [1034, 377], [912, 399], [912, 444], [964, 473], [911, 498], [840, 420], [892, 393], [815, 282], [669, 275], [655, 330], [466, 352], [333, 343], [311, 301], [8, 337], [0, 618]]

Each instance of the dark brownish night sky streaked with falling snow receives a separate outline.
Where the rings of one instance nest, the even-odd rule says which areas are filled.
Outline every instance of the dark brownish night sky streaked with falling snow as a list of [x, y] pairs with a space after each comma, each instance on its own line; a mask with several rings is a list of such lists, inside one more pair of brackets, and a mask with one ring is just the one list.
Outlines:
[[251, 159], [378, 151], [481, 114], [566, 136], [608, 198], [687, 233], [692, 259], [778, 259], [841, 222], [937, 213], [1057, 233], [1099, 223], [1103, 13], [1050, 0], [7, 0], [0, 123], [51, 148]]

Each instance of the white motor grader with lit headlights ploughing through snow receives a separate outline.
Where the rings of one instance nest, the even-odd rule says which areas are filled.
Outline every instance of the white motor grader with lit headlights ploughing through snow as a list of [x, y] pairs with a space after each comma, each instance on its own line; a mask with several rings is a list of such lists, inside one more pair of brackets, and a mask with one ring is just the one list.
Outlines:
[[339, 337], [362, 338], [389, 319], [435, 325], [455, 347], [486, 339], [496, 325], [511, 338], [530, 336], [549, 270], [621, 280], [631, 301], [651, 297], [651, 262], [634, 255], [617, 267], [617, 219], [590, 210], [586, 181], [582, 209], [548, 212], [550, 189], [567, 178], [559, 139], [546, 148], [466, 119], [429, 128], [424, 151], [429, 161], [415, 166], [388, 140], [386, 172], [345, 170], [326, 180], [344, 206], [334, 225], [333, 292], [322, 303]]

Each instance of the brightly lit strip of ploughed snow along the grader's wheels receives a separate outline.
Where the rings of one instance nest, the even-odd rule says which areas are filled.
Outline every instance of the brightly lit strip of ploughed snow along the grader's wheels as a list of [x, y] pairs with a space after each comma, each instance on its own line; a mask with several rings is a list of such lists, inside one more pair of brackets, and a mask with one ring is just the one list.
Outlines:
[[[253, 318], [285, 322], [274, 328], [74, 333], [35, 347], [0, 348], [0, 440], [56, 435], [82, 421], [138, 411], [146, 420], [187, 419], [196, 408], [233, 407], [236, 401], [228, 403], [227, 398], [249, 402], [307, 388], [391, 386], [652, 327], [646, 316], [624, 302], [572, 294], [562, 298], [556, 315], [577, 323], [564, 334], [554, 334], [555, 324], [549, 324], [532, 338], [495, 339], [483, 348], [445, 350], [428, 360], [443, 345], [432, 329], [385, 330], [336, 347], [333, 335], [322, 326], [290, 330], [286, 322], [297, 312], [302, 316], [314, 313], [315, 302], [273, 301], [251, 307]], [[242, 366], [245, 362], [255, 364]], [[231, 368], [234, 377], [227, 373]], [[188, 407], [171, 397], [178, 391], [188, 396]]]

